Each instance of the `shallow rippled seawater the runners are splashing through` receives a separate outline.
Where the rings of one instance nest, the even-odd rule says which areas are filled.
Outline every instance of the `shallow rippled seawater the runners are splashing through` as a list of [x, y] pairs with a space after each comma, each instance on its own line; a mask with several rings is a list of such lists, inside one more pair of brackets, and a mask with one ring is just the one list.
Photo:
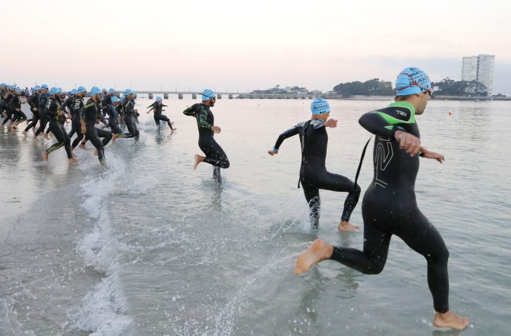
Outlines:
[[[426, 262], [397, 237], [380, 275], [333, 261], [293, 275], [317, 237], [363, 243], [363, 232], [337, 231], [343, 193], [321, 191], [320, 227], [309, 228], [297, 137], [266, 153], [309, 118], [309, 100], [217, 101], [215, 138], [231, 163], [222, 188], [211, 166], [192, 169], [197, 128], [181, 111], [195, 102], [166, 101], [171, 133], [139, 99], [140, 143], [108, 144], [106, 168], [81, 149], [78, 164], [63, 149], [43, 163], [54, 138], [0, 129], [0, 335], [458, 334], [431, 325]], [[370, 136], [358, 118], [386, 104], [331, 101], [339, 127], [328, 130], [329, 171], [354, 178]], [[432, 101], [417, 117], [423, 145], [446, 156], [421, 159], [415, 189], [449, 248], [450, 306], [471, 319], [464, 335], [510, 334], [510, 108]], [[371, 152], [372, 143], [363, 191]]]

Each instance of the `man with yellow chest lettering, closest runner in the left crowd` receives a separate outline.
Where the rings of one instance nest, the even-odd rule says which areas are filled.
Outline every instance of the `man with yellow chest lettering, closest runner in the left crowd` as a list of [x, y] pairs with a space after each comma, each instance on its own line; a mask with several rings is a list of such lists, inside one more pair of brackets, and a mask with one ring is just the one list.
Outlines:
[[87, 100], [87, 103], [80, 111], [81, 132], [85, 135], [86, 139], [96, 147], [98, 150], [99, 162], [104, 166], [106, 165], [104, 145], [110, 141], [112, 133], [108, 132], [110, 133], [109, 137], [104, 135], [105, 139], [103, 139], [103, 143], [99, 140], [98, 133], [101, 130], [96, 128], [96, 121], [98, 120], [99, 113], [97, 103], [101, 100], [101, 90], [99, 87], [94, 86], [90, 89], [90, 94], [90, 99]]

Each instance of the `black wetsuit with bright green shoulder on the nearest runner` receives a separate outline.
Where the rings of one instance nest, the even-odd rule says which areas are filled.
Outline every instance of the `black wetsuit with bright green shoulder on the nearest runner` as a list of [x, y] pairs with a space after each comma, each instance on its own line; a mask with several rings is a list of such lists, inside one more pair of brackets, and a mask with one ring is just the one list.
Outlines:
[[442, 236], [417, 207], [415, 177], [419, 156], [411, 157], [394, 139], [396, 127], [420, 137], [415, 109], [407, 102], [366, 113], [360, 125], [376, 135], [374, 179], [362, 201], [364, 249], [334, 248], [331, 259], [365, 274], [378, 274], [387, 260], [390, 238], [397, 235], [428, 263], [428, 285], [436, 311], [449, 310], [449, 251]]

